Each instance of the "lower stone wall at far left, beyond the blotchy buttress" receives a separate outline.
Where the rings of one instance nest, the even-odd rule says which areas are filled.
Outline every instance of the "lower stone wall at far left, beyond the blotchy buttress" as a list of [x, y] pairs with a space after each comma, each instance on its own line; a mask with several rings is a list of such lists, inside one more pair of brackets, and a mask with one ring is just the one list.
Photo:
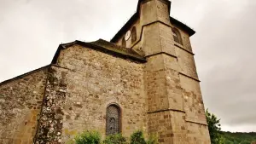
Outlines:
[[48, 68], [0, 84], [0, 143], [32, 144]]

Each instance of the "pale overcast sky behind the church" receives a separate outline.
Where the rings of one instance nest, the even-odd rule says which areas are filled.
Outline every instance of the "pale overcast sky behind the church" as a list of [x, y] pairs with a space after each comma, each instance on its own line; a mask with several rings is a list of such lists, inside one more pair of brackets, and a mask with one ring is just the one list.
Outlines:
[[[137, 0], [0, 0], [0, 82], [50, 63], [58, 45], [110, 40]], [[172, 0], [191, 37], [205, 107], [222, 130], [256, 131], [256, 1]]]

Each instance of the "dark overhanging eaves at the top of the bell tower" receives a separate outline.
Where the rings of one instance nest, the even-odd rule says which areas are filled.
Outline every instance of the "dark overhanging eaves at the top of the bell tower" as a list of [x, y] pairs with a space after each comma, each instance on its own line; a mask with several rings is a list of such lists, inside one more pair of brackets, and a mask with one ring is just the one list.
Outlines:
[[[130, 20], [128, 20], [128, 21], [125, 23], [125, 26], [123, 26], [123, 27], [119, 30], [119, 32], [117, 32], [117, 33], [115, 34], [115, 36], [110, 40], [110, 42], [112, 42], [112, 43], [117, 42], [117, 40], [118, 40], [120, 37], [122, 37], [122, 36], [125, 34], [125, 32], [127, 32], [127, 31], [131, 28], [131, 26], [135, 23], [135, 21], [139, 19], [139, 17], [140, 17], [140, 9], [141, 9], [140, 3], [143, 3], [144, 1], [146, 1], [146, 0], [139, 0], [139, 1], [138, 1], [138, 4], [137, 4], [137, 12], [131, 16]], [[170, 14], [171, 2], [168, 1], [168, 0], [165, 0], [165, 1], [168, 3], [168, 9], [169, 9], [169, 14]], [[171, 16], [170, 16], [170, 20], [171, 20], [171, 22], [172, 22], [174, 25], [177, 25], [177, 26], [179, 26], [181, 29], [183, 29], [184, 31], [188, 32], [188, 33], [189, 33], [189, 36], [193, 36], [193, 35], [195, 34], [195, 31], [194, 31], [193, 29], [191, 29], [189, 26], [186, 26], [185, 24], [183, 24], [183, 23], [180, 22], [179, 20], [176, 20], [176, 19], [172, 18]]]

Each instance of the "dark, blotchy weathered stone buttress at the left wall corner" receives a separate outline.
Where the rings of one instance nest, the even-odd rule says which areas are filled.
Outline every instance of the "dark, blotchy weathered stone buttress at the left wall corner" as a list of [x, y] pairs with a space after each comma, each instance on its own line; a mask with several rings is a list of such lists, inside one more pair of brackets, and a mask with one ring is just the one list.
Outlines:
[[67, 70], [51, 66], [45, 89], [36, 143], [58, 143], [61, 141], [63, 105], [67, 93]]

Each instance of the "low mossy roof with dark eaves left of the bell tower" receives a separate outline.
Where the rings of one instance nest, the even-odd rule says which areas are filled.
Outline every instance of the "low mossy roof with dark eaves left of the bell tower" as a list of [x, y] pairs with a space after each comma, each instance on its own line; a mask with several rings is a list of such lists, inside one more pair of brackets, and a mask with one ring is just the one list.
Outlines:
[[79, 44], [87, 49], [95, 49], [95, 50], [101, 51], [102, 53], [118, 56], [123, 59], [136, 60], [138, 62], [146, 62], [146, 59], [142, 55], [137, 54], [137, 52], [134, 51], [133, 49], [125, 48], [125, 47], [116, 45], [114, 43], [105, 41], [103, 39], [99, 39], [95, 42], [90, 42], [90, 43], [85, 43], [85, 42], [76, 40], [73, 43], [61, 44], [57, 49], [57, 52], [55, 53], [55, 56], [51, 64], [56, 64], [58, 57], [60, 55], [61, 49], [67, 49], [73, 46], [74, 44]]

